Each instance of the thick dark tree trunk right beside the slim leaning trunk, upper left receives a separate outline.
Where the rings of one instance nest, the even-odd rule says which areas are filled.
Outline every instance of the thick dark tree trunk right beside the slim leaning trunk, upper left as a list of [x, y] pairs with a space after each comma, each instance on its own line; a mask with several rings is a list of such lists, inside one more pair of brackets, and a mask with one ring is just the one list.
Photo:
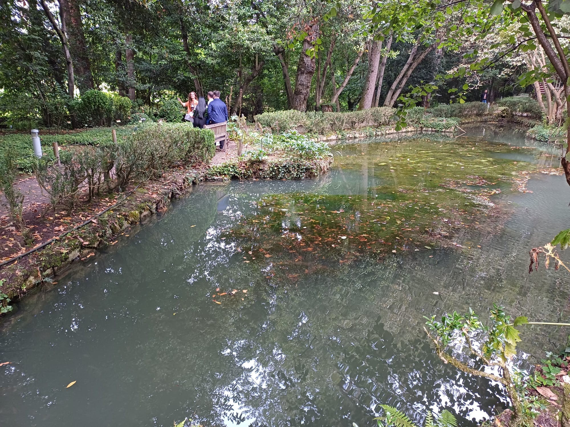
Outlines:
[[59, 0], [62, 22], [66, 26], [67, 42], [74, 60], [75, 77], [79, 92], [93, 89], [91, 63], [83, 34], [81, 11], [77, 0]]

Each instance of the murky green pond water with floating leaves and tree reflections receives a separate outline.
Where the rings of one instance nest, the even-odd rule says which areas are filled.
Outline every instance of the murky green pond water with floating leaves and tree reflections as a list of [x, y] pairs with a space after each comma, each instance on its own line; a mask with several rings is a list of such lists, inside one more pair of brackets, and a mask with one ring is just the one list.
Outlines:
[[[517, 191], [557, 164], [529, 145], [508, 127], [342, 143], [317, 179], [196, 187], [3, 321], [2, 425], [363, 427], [379, 404], [485, 420], [502, 390], [443, 365], [423, 316], [567, 321], [570, 276], [528, 274], [528, 251], [568, 227], [570, 188]], [[516, 363], [565, 332], [526, 327]]]

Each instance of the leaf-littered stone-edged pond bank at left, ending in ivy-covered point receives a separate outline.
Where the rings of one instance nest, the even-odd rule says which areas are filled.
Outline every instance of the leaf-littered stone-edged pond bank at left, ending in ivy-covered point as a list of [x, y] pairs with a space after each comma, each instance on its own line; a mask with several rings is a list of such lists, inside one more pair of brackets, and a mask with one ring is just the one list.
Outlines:
[[[234, 143], [231, 143], [229, 150], [231, 149], [235, 150]], [[95, 255], [94, 251], [116, 244], [117, 237], [128, 236], [128, 231], [125, 231], [128, 227], [158, 212], [165, 212], [172, 200], [192, 192], [197, 183], [232, 177], [233, 167], [239, 171], [239, 178], [303, 179], [327, 173], [333, 163], [332, 157], [307, 160], [282, 155], [274, 155], [263, 162], [249, 160], [226, 163], [228, 157], [235, 159], [231, 154], [217, 150], [209, 165], [179, 166], [167, 171], [159, 179], [136, 186], [131, 184], [125, 188], [123, 194], [100, 196], [102, 202], [97, 203], [99, 200], [96, 200], [96, 206], [88, 209], [84, 206], [72, 212], [54, 212], [51, 214], [54, 216], [47, 216], [47, 220], [53, 221], [51, 224], [43, 224], [43, 219], [38, 220], [42, 221], [42, 224], [30, 223], [29, 228], [36, 230], [34, 237], [40, 242], [35, 249], [22, 248], [19, 244], [14, 247], [14, 239], [10, 240], [4, 236], [0, 241], [7, 250], [5, 249], [3, 260], [6, 265], [0, 264], [0, 296], [5, 294], [10, 301], [0, 299], [0, 306], [10, 307], [11, 302], [19, 301], [36, 286], [42, 283], [51, 284], [53, 277], [66, 270], [73, 262], [88, 260]], [[39, 192], [40, 188], [30, 191]], [[47, 200], [33, 202], [29, 208], [40, 212], [40, 207], [46, 202]], [[75, 220], [81, 224], [75, 227], [68, 225], [75, 225]], [[48, 231], [48, 227], [54, 226], [58, 231], [55, 236], [49, 237], [47, 241], [42, 239], [40, 227], [46, 227], [43, 231]], [[12, 232], [18, 233], [15, 229]], [[42, 240], [45, 241], [43, 244]], [[15, 250], [18, 247], [20, 249]], [[27, 252], [30, 253], [27, 254], [24, 249], [28, 249]], [[6, 257], [7, 252], [13, 255]]]

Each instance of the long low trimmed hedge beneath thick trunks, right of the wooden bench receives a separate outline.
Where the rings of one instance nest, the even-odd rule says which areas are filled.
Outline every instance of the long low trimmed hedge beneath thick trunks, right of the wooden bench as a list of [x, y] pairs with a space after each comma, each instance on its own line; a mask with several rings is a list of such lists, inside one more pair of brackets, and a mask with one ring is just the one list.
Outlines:
[[254, 120], [263, 128], [271, 128], [273, 133], [288, 132], [289, 130], [326, 133], [367, 126], [389, 125], [393, 122], [394, 112], [395, 109], [389, 107], [345, 113], [305, 113], [297, 110], [283, 110], [258, 114]]

